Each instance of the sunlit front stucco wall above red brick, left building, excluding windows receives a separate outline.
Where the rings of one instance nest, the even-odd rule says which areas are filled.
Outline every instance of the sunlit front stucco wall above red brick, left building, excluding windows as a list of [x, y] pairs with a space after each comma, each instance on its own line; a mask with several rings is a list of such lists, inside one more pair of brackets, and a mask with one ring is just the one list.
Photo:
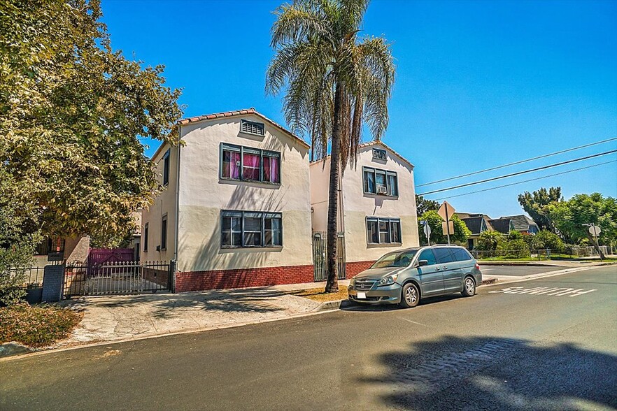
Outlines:
[[[240, 133], [240, 120], [265, 123], [265, 136]], [[312, 264], [308, 147], [261, 117], [182, 127], [178, 271]], [[220, 143], [281, 152], [281, 185], [220, 180]], [[283, 247], [220, 247], [220, 211], [283, 213]]]

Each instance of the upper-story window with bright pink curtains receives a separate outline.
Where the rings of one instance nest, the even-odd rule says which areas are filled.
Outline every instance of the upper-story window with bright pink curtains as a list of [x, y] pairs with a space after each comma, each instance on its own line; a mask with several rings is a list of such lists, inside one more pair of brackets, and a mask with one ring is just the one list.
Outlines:
[[281, 153], [222, 144], [220, 177], [281, 184]]

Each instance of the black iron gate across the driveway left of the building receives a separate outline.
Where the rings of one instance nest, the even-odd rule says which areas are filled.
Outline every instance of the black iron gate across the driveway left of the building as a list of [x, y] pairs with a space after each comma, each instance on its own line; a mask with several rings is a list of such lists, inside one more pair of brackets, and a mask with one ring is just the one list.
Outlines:
[[64, 268], [64, 298], [172, 291], [175, 261], [73, 263]]

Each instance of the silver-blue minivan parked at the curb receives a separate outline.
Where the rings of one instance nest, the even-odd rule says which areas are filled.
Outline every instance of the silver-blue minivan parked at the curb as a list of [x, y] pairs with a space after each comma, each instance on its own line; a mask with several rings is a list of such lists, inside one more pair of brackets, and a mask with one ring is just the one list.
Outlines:
[[355, 303], [416, 307], [420, 298], [460, 292], [470, 297], [482, 282], [480, 266], [463, 247], [432, 245], [385, 254], [355, 275], [347, 289]]

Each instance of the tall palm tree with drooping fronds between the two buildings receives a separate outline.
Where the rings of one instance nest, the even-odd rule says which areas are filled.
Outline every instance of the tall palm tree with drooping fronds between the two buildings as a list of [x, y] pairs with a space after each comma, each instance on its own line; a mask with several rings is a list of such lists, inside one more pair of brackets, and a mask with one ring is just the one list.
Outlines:
[[[310, 134], [312, 156], [325, 159], [331, 145], [326, 292], [339, 291], [336, 213], [339, 173], [353, 166], [367, 124], [375, 140], [388, 127], [395, 66], [390, 44], [358, 37], [368, 0], [298, 0], [275, 11], [266, 91], [283, 98], [285, 120]], [[316, 150], [316, 152], [315, 152]], [[313, 158], [311, 158], [313, 159]]]

